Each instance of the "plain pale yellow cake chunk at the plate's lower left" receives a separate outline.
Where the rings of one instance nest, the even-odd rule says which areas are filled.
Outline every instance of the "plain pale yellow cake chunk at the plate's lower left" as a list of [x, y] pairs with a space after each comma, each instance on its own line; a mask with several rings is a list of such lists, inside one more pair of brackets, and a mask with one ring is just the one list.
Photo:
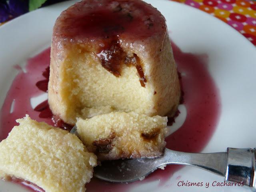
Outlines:
[[26, 180], [46, 192], [84, 192], [97, 157], [78, 137], [29, 116], [16, 121], [0, 142], [0, 178]]

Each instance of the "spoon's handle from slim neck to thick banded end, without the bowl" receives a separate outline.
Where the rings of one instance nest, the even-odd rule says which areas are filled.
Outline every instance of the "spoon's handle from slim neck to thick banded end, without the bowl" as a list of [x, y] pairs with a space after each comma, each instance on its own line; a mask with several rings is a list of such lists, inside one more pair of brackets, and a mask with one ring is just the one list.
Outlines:
[[162, 164], [190, 165], [240, 182], [256, 192], [256, 149], [228, 148], [227, 152], [185, 153], [166, 148]]

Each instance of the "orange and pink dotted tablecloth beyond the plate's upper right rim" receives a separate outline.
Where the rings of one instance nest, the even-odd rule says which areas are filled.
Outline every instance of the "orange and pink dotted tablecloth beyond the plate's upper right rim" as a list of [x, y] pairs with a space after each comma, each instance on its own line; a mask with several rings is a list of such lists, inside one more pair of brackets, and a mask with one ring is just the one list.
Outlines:
[[[62, 0], [58, 0], [60, 2]], [[256, 46], [256, 0], [173, 0], [219, 18]], [[52, 1], [54, 2], [54, 1]], [[1, 9], [0, 9], [1, 16]], [[4, 23], [0, 23], [2, 25]]]

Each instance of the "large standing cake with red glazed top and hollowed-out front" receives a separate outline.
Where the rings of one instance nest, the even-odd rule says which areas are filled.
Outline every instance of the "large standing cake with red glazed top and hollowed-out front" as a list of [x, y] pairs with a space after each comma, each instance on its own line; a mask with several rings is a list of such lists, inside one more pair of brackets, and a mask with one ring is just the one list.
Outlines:
[[172, 116], [180, 85], [164, 16], [141, 0], [83, 0], [62, 12], [48, 97], [73, 125], [111, 111]]

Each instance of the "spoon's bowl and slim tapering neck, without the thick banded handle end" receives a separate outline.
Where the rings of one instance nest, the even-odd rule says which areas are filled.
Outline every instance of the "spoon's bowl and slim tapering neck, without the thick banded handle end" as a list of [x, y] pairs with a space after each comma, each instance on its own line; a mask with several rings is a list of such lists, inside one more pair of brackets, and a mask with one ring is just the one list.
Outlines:
[[94, 168], [94, 176], [110, 182], [133, 182], [168, 164], [191, 165], [225, 176], [227, 154], [184, 153], [166, 149], [164, 156], [134, 160], [114, 160], [102, 162]]

